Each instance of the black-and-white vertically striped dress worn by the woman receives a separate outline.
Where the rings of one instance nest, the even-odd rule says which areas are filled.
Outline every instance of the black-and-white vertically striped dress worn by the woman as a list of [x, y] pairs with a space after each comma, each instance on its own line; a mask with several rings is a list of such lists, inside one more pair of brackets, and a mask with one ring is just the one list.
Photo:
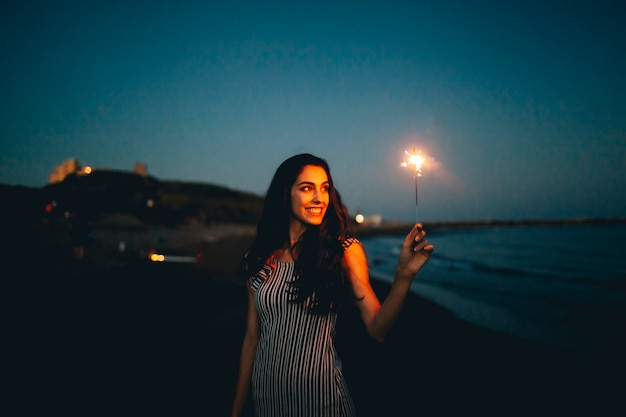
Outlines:
[[294, 268], [271, 258], [251, 277], [261, 326], [252, 372], [256, 415], [354, 416], [334, 346], [337, 314], [310, 314], [288, 302]]

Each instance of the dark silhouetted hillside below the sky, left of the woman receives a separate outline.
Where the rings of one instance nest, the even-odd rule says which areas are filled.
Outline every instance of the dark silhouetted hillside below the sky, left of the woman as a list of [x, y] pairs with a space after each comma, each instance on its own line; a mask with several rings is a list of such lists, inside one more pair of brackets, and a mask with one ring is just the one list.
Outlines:
[[189, 219], [200, 224], [255, 224], [263, 198], [226, 187], [163, 181], [119, 171], [68, 175], [63, 182], [41, 188], [0, 184], [0, 214], [14, 224], [42, 218], [81, 215], [97, 221], [123, 213], [148, 225], [177, 226]]

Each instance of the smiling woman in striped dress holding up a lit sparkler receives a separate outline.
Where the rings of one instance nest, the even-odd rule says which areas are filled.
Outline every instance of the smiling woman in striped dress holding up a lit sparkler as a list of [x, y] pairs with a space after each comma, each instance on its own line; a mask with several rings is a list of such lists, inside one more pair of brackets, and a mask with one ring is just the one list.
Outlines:
[[406, 236], [381, 304], [328, 164], [311, 154], [285, 160], [242, 261], [248, 317], [232, 416], [243, 412], [250, 385], [257, 416], [354, 416], [334, 346], [337, 313], [353, 303], [382, 342], [433, 251], [424, 236], [420, 224]]

